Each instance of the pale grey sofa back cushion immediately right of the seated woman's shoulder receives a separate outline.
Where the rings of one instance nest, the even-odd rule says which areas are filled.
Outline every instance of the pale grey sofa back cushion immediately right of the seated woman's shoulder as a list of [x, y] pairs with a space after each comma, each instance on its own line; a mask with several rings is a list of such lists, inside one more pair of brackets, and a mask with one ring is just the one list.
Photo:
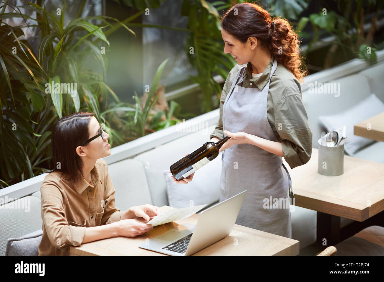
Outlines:
[[125, 211], [131, 206], [152, 204], [142, 163], [127, 159], [108, 165], [115, 192], [115, 206]]

